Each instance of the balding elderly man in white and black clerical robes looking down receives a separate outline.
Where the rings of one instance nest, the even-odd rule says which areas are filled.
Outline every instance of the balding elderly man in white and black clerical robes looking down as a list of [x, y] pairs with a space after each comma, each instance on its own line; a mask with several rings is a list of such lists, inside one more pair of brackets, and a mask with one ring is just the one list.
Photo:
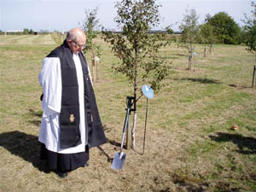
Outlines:
[[39, 82], [44, 110], [38, 140], [41, 159], [49, 170], [67, 177], [88, 166], [89, 148], [106, 143], [90, 70], [81, 49], [86, 36], [80, 28], [67, 32], [60, 47], [44, 58]]

